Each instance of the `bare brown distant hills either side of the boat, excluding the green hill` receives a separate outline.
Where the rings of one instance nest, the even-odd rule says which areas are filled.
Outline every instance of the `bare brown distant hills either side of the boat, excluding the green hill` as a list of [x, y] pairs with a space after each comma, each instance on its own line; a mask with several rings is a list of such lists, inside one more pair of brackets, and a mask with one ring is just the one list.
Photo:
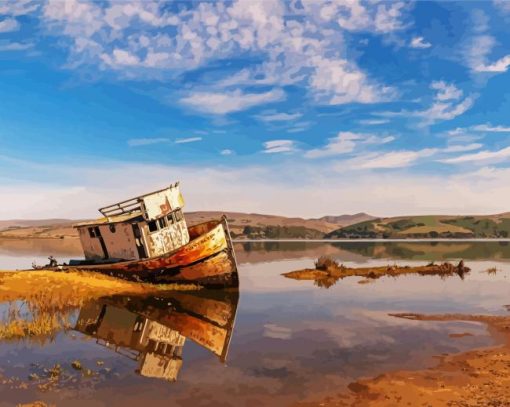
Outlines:
[[[237, 239], [320, 239], [353, 219], [366, 214], [323, 217], [321, 219], [287, 218], [242, 212], [186, 212], [188, 224], [193, 225], [227, 215], [230, 232]], [[327, 219], [331, 219], [328, 221]], [[0, 237], [10, 238], [69, 238], [78, 237], [73, 223], [78, 220], [41, 219], [0, 221]]]

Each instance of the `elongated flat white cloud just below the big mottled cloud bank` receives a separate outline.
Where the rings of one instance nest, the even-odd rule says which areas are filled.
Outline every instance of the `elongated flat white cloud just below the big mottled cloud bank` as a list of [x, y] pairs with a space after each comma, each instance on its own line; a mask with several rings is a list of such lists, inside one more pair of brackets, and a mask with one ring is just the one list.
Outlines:
[[243, 93], [238, 89], [225, 92], [192, 92], [180, 102], [201, 112], [222, 115], [284, 99], [285, 93], [281, 89], [262, 93]]

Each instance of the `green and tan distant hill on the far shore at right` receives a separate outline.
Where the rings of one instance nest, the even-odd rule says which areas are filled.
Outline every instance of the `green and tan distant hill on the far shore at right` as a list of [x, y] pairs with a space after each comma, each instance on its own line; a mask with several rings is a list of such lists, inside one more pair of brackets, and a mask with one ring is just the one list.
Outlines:
[[325, 238], [507, 238], [510, 212], [486, 216], [399, 216], [341, 227]]

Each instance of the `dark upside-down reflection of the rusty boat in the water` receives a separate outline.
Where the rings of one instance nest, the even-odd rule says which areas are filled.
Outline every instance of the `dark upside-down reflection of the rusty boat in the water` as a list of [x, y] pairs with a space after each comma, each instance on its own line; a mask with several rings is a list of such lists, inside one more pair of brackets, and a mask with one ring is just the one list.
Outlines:
[[103, 297], [81, 308], [75, 330], [137, 361], [140, 375], [176, 381], [186, 339], [225, 362], [238, 301], [238, 290]]

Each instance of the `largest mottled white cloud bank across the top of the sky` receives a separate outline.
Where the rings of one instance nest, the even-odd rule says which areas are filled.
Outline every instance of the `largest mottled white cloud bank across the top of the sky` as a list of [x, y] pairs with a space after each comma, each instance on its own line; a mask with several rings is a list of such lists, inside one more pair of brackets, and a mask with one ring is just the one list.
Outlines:
[[[69, 47], [68, 67], [98, 65], [119, 77], [168, 78], [211, 61], [249, 53], [262, 63], [216, 83], [308, 85], [320, 103], [374, 103], [395, 91], [347, 58], [343, 31], [386, 35], [405, 28], [405, 2], [279, 0], [198, 2], [171, 12], [163, 3], [102, 5], [48, 0], [43, 23]], [[206, 82], [212, 92], [214, 85]], [[203, 88], [205, 91], [205, 86]], [[210, 111], [210, 109], [207, 109]]]

